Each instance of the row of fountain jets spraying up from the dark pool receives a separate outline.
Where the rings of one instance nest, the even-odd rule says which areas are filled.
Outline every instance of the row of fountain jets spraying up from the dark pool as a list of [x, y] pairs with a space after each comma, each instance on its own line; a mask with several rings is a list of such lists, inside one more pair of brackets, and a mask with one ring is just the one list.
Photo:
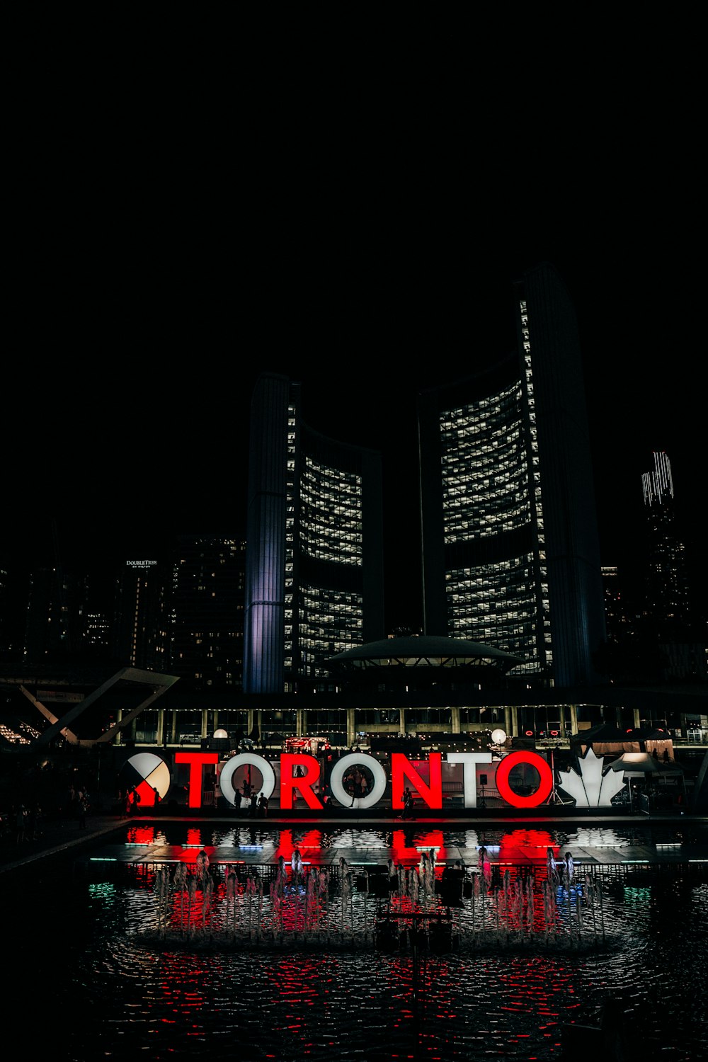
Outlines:
[[[437, 868], [439, 871], [441, 868]], [[383, 873], [381, 873], [383, 871]], [[602, 887], [590, 875], [571, 884], [555, 868], [504, 871], [490, 884], [456, 870], [438, 877], [434, 855], [419, 867], [375, 870], [340, 859], [332, 868], [278, 864], [155, 871], [154, 924], [148, 937], [171, 947], [379, 950], [422, 948], [584, 950], [609, 943]]]

